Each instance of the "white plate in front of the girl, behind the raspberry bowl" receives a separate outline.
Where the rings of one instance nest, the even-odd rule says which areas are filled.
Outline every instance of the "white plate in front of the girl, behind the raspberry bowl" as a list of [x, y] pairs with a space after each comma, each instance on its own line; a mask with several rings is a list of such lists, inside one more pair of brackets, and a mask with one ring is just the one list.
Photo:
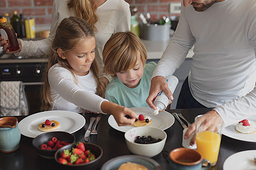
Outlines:
[[60, 122], [61, 127], [54, 131], [64, 131], [70, 134], [78, 131], [85, 125], [85, 118], [78, 113], [64, 110], [53, 110], [36, 113], [22, 119], [18, 124], [21, 134], [27, 137], [36, 137], [45, 133], [38, 130], [37, 127], [46, 119]]

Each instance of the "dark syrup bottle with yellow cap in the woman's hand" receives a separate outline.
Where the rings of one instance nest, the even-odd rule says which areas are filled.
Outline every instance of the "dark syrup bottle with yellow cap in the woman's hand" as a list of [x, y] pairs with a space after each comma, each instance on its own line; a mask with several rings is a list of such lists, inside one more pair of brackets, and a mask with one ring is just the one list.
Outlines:
[[17, 36], [12, 25], [7, 21], [6, 17], [0, 18], [0, 34], [8, 41], [9, 51], [17, 51], [20, 49]]

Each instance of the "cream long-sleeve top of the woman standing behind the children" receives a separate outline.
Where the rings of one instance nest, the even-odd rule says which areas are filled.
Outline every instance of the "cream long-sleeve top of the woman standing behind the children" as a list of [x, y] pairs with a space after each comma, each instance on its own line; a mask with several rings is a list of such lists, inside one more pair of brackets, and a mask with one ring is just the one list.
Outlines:
[[[68, 0], [54, 0], [52, 7], [52, 22], [50, 35], [48, 38], [38, 41], [21, 40], [21, 51], [15, 55], [37, 56], [47, 54], [51, 49], [50, 45], [55, 37], [56, 29], [61, 21], [66, 17], [75, 17], [74, 11], [67, 8]], [[109, 37], [116, 32], [130, 30], [130, 10], [129, 4], [125, 0], [107, 0], [96, 11], [99, 19], [95, 23], [97, 32], [95, 33], [96, 49], [95, 58], [100, 66], [101, 76], [111, 80], [111, 76], [103, 73], [102, 51]]]

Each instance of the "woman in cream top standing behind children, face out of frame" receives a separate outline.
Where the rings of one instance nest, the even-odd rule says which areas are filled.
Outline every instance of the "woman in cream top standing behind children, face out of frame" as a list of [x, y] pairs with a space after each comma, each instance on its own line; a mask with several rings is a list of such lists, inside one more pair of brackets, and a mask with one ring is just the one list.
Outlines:
[[[102, 51], [108, 38], [116, 32], [130, 30], [129, 4], [125, 0], [54, 0], [52, 8], [52, 23], [48, 38], [38, 41], [23, 41], [19, 39], [20, 50], [7, 53], [15, 55], [37, 56], [48, 54], [57, 26], [66, 17], [81, 17], [85, 19], [95, 32], [96, 60], [99, 63], [101, 81], [106, 86], [111, 76], [103, 73]], [[0, 46], [5, 51], [8, 44], [0, 37]]]

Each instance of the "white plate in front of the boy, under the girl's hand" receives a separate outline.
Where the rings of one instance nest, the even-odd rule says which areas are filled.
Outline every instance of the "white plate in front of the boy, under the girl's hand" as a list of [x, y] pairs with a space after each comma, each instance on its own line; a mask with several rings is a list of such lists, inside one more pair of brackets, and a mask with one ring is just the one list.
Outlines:
[[[154, 109], [151, 109], [149, 107], [131, 107], [130, 110], [134, 111], [138, 115], [142, 114], [145, 116], [150, 116], [152, 118], [152, 123], [149, 125], [150, 127], [156, 127], [162, 130], [166, 130], [171, 127], [171, 125], [174, 123], [174, 117], [171, 115], [171, 113], [167, 111], [160, 112], [158, 115], [153, 115]], [[129, 129], [134, 128], [135, 126], [118, 126], [116, 120], [112, 115], [108, 117], [108, 124], [121, 132], [127, 132]]]

